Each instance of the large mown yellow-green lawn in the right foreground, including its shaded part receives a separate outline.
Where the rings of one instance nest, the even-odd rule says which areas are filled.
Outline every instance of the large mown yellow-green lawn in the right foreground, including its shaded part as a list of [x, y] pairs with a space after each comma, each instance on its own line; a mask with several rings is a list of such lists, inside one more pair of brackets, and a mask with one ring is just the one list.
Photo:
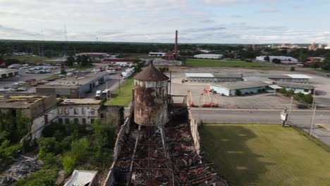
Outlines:
[[200, 130], [204, 157], [228, 185], [330, 185], [330, 150], [281, 125], [207, 124]]

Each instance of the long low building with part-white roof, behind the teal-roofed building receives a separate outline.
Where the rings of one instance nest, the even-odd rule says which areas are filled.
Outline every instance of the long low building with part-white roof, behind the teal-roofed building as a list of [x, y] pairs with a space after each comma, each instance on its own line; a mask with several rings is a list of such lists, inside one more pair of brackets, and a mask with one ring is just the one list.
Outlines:
[[243, 74], [212, 74], [212, 73], [185, 73], [187, 80], [191, 82], [240, 82]]

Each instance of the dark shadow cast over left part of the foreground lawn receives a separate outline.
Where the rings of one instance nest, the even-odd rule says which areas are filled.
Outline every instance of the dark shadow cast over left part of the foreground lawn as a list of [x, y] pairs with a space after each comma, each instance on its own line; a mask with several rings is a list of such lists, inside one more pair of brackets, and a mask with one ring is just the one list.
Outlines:
[[256, 185], [266, 166], [274, 165], [260, 161], [263, 156], [250, 150], [247, 141], [257, 136], [240, 125], [203, 125], [200, 135], [205, 159], [215, 164], [229, 185]]

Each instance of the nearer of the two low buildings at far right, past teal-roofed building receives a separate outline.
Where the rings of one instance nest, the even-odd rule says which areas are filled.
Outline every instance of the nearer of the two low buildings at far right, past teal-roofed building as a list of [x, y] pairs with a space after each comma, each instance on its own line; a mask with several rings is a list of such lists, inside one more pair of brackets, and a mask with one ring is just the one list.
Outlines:
[[302, 94], [313, 94], [314, 93], [314, 86], [306, 83], [296, 83], [296, 82], [276, 82], [276, 85], [280, 87], [284, 87], [286, 90], [291, 90], [295, 93], [302, 93]]

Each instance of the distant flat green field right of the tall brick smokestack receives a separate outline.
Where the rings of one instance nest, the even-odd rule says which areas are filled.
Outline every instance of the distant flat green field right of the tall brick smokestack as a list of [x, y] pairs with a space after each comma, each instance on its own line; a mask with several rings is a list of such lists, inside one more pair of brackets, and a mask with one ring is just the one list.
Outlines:
[[246, 61], [219, 61], [209, 59], [193, 59], [188, 58], [185, 61], [185, 66], [194, 67], [240, 67], [240, 68], [261, 68], [269, 67], [260, 63], [249, 63]]

